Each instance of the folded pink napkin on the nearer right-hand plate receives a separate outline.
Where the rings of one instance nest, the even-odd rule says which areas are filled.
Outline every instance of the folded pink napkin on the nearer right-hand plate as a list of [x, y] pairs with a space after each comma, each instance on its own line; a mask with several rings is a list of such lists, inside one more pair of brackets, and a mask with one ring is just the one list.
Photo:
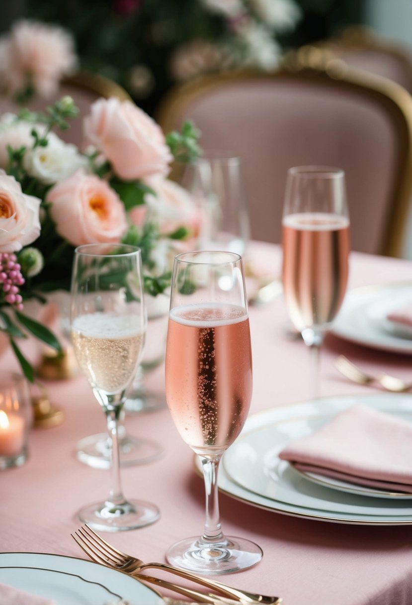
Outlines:
[[279, 456], [303, 471], [412, 493], [412, 423], [367, 405], [353, 405]]

